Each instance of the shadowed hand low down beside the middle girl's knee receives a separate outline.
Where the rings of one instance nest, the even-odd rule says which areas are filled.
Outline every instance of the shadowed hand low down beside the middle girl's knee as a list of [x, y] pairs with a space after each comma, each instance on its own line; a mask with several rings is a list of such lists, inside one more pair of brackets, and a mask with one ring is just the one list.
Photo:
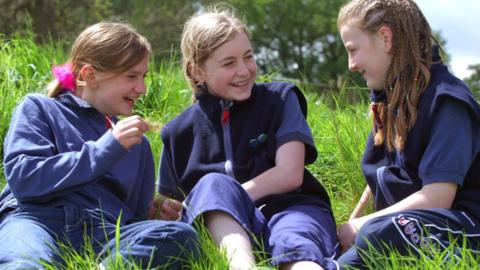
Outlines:
[[181, 202], [160, 194], [153, 199], [148, 210], [148, 218], [178, 220], [182, 216], [182, 208]]

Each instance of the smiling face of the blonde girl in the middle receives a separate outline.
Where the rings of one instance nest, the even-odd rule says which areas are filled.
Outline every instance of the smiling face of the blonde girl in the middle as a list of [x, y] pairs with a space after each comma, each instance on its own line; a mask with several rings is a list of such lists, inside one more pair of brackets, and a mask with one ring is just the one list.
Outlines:
[[192, 74], [198, 82], [206, 82], [208, 91], [213, 95], [227, 100], [248, 99], [257, 75], [248, 36], [243, 32], [236, 33]]

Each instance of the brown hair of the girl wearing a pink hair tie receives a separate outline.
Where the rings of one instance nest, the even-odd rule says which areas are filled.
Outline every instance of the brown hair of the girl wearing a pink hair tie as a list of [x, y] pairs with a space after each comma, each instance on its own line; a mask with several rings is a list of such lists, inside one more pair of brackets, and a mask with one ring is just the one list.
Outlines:
[[[101, 72], [121, 73], [150, 55], [148, 40], [130, 24], [100, 22], [86, 28], [75, 40], [68, 63], [77, 86], [83, 86], [80, 69], [91, 65]], [[48, 86], [48, 96], [56, 97], [62, 91], [58, 79]]]

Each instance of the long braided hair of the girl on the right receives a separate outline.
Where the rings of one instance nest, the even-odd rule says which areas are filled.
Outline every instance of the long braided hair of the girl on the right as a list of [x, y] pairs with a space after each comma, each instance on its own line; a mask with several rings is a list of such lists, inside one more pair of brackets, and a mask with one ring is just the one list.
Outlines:
[[[413, 0], [354, 0], [340, 10], [337, 26], [358, 21], [371, 34], [382, 26], [392, 33], [392, 62], [385, 78], [387, 104], [373, 104], [382, 122], [375, 128], [375, 145], [386, 140], [387, 149], [402, 151], [415, 125], [420, 96], [430, 81], [432, 32]], [[378, 127], [378, 125], [377, 125]]]

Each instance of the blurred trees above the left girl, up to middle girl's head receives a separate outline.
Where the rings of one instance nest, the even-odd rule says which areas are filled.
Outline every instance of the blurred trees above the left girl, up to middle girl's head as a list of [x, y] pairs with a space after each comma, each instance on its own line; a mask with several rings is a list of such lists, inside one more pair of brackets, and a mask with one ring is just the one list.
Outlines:
[[[31, 30], [36, 40], [73, 42], [88, 25], [126, 21], [152, 43], [157, 58], [179, 48], [184, 21], [211, 0], [0, 0], [0, 32], [7, 36]], [[30, 26], [29, 26], [30, 25]]]

